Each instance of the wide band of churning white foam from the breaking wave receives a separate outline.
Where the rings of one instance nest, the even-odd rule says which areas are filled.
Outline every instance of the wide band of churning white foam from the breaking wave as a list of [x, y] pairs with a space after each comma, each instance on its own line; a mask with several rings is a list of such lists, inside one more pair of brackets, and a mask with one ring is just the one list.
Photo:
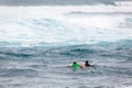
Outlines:
[[0, 7], [0, 42], [87, 44], [132, 37], [130, 15], [66, 15], [73, 11], [132, 12], [131, 6]]

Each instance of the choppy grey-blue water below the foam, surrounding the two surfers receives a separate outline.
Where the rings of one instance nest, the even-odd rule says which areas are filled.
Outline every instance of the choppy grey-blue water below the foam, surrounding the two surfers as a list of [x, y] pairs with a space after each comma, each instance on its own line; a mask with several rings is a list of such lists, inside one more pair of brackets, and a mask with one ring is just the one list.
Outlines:
[[[132, 45], [1, 47], [1, 88], [125, 88], [132, 85]], [[86, 59], [95, 67], [73, 70]]]

